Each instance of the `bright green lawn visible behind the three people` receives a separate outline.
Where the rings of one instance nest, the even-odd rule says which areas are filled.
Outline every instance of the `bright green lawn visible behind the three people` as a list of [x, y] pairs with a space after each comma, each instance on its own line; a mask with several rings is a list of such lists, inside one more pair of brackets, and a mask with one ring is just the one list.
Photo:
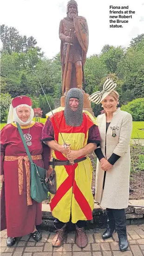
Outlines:
[[[35, 121], [35, 118], [33, 118], [33, 121]], [[45, 123], [46, 118], [40, 118], [39, 122]], [[133, 121], [133, 128], [132, 128], [132, 134], [131, 134], [131, 139], [144, 139], [144, 121], [137, 122]], [[6, 123], [1, 122], [0, 123], [0, 130], [6, 125]], [[143, 129], [143, 130], [140, 130]]]

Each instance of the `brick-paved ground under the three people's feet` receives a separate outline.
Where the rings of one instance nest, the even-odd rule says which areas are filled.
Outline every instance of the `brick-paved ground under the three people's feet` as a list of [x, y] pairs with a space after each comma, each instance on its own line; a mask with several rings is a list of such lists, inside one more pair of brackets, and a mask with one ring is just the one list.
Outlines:
[[130, 247], [127, 251], [118, 249], [118, 236], [104, 241], [101, 238], [104, 229], [88, 230], [89, 243], [80, 249], [74, 243], [75, 234], [70, 233], [63, 246], [52, 248], [51, 242], [55, 233], [43, 231], [42, 240], [33, 242], [29, 236], [21, 237], [12, 248], [6, 247], [6, 230], [1, 232], [1, 256], [144, 256], [144, 224], [127, 226]]

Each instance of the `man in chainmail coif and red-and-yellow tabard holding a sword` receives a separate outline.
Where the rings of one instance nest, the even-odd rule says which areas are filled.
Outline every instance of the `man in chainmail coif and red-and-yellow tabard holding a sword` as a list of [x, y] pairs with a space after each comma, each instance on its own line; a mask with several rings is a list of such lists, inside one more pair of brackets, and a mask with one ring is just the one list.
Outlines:
[[[56, 172], [57, 192], [51, 194], [50, 207], [57, 231], [52, 246], [62, 245], [66, 223], [76, 225], [76, 244], [83, 248], [88, 239], [85, 222], [92, 220], [94, 200], [92, 196], [92, 164], [87, 156], [99, 146], [100, 136], [93, 116], [83, 111], [82, 90], [72, 88], [65, 98], [65, 109], [58, 108], [48, 114], [43, 128], [42, 141], [53, 149], [53, 168]], [[64, 142], [61, 138], [63, 136]], [[73, 162], [73, 164], [71, 164]]]

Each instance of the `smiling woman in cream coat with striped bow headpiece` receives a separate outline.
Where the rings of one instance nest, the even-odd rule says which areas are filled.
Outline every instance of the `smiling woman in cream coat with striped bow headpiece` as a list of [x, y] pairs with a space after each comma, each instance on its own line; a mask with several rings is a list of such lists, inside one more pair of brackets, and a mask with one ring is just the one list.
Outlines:
[[106, 79], [103, 91], [93, 93], [89, 100], [96, 104], [101, 102], [105, 111], [97, 117], [101, 146], [95, 150], [98, 157], [95, 200], [106, 208], [108, 217], [102, 238], [110, 238], [116, 229], [119, 248], [124, 251], [128, 248], [124, 208], [128, 207], [129, 200], [132, 117], [117, 108], [116, 86]]

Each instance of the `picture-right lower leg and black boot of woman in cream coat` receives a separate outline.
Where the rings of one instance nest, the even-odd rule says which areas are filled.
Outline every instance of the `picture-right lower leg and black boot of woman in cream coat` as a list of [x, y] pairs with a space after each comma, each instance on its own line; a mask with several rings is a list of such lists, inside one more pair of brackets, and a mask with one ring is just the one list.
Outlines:
[[126, 234], [126, 217], [124, 209], [113, 209], [113, 215], [116, 222], [116, 231], [119, 239], [119, 249], [125, 251], [128, 247], [128, 240]]

